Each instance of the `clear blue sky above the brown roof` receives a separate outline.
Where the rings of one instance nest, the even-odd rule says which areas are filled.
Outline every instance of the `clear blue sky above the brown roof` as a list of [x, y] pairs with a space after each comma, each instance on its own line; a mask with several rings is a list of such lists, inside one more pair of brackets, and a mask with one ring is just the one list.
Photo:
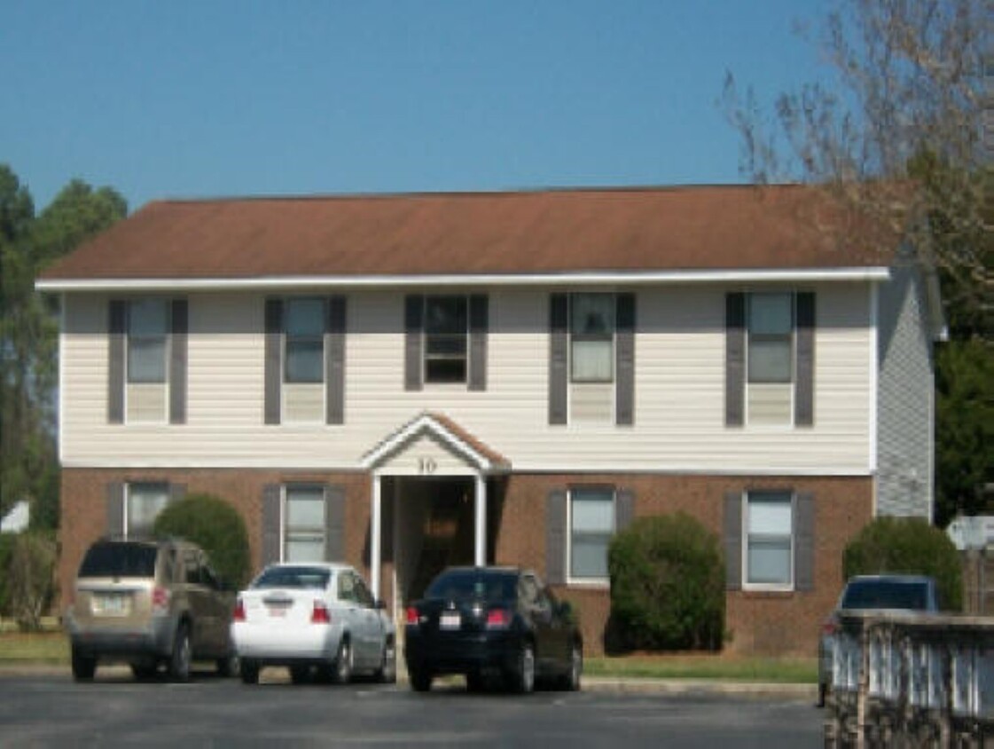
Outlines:
[[0, 162], [166, 197], [740, 182], [819, 0], [3, 0]]

